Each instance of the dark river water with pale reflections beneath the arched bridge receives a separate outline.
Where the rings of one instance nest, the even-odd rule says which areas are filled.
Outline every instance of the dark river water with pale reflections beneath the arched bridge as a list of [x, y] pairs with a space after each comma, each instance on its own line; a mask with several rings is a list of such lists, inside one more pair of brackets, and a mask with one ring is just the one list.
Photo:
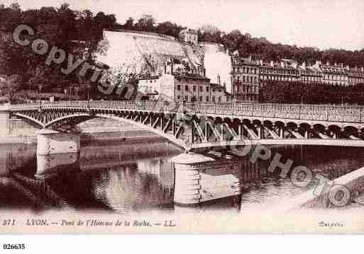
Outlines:
[[[294, 165], [307, 166], [330, 179], [364, 166], [363, 148], [331, 146], [271, 146]], [[165, 141], [123, 144], [121, 141], [87, 142], [80, 154], [35, 155], [35, 144], [0, 145], [0, 207], [2, 209], [69, 209], [175, 212], [175, 173], [171, 158], [182, 151]], [[218, 152], [211, 154], [221, 158]], [[225, 158], [225, 157], [224, 157]], [[227, 159], [231, 159], [228, 156]], [[297, 187], [280, 172], [268, 172], [269, 161], [251, 163], [249, 156], [233, 158], [239, 166], [214, 168], [211, 175], [235, 175], [242, 194], [205, 202], [195, 209], [244, 212], [269, 209], [275, 202], [309, 190]], [[40, 173], [53, 168], [47, 173]], [[212, 190], [214, 191], [214, 190]]]

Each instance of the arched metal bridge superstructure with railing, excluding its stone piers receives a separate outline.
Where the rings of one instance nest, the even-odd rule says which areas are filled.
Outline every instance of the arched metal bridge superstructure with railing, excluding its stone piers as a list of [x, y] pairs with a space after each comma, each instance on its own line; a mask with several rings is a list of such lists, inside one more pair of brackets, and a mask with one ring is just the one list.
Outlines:
[[[211, 132], [219, 139], [219, 142], [209, 140], [206, 137], [208, 135], [206, 127], [209, 128], [209, 126], [199, 126], [199, 122], [193, 121], [189, 126], [192, 128], [189, 137], [184, 135], [181, 138], [181, 125], [177, 125], [173, 122], [174, 119], [165, 117], [166, 115], [170, 115], [170, 117], [180, 115], [182, 118], [190, 117], [191, 119], [193, 117], [197, 117], [197, 119], [211, 118], [215, 121], [213, 125], [216, 122], [223, 122], [228, 127], [232, 122], [238, 120], [245, 129], [243, 132], [246, 132], [250, 137], [251, 144], [364, 146], [363, 137], [360, 134], [362, 129], [364, 130], [364, 107], [362, 106], [264, 103], [208, 104], [178, 103], [175, 101], [63, 101], [9, 105], [6, 110], [19, 117], [28, 117], [28, 120], [33, 120], [40, 127], [48, 127], [68, 118], [78, 117], [81, 119], [83, 117], [85, 120], [89, 117], [113, 118], [140, 127], [148, 127], [151, 131], [157, 132], [162, 137], [186, 149], [225, 146], [229, 142], [226, 141], [228, 139], [221, 139], [224, 134], [214, 127], [211, 128]], [[50, 116], [51, 112], [57, 112], [57, 116]], [[144, 114], [149, 114], [149, 116]], [[142, 117], [143, 120], [141, 120]], [[265, 125], [266, 123], [268, 125]], [[272, 125], [275, 126], [275, 129], [271, 128]], [[287, 129], [290, 133], [289, 137], [282, 136], [282, 133], [276, 133], [280, 125], [285, 127], [281, 128], [282, 131]], [[302, 130], [298, 130], [300, 126], [307, 125], [312, 128], [310, 136], [307, 135], [306, 131], [304, 133]], [[260, 127], [257, 129], [257, 126]], [[317, 129], [316, 126], [321, 127], [321, 130], [320, 128]], [[332, 132], [333, 129], [336, 129], [335, 133]], [[337, 137], [340, 134], [338, 132], [344, 132], [346, 129], [350, 131]], [[183, 131], [186, 132], [185, 129]], [[224, 132], [224, 129], [221, 131]], [[264, 132], [268, 133], [268, 137], [271, 139], [268, 139], [267, 136], [264, 137]], [[236, 133], [236, 129], [232, 129], [232, 133]], [[196, 138], [201, 140], [195, 142]], [[234, 137], [234, 139], [239, 138]]]

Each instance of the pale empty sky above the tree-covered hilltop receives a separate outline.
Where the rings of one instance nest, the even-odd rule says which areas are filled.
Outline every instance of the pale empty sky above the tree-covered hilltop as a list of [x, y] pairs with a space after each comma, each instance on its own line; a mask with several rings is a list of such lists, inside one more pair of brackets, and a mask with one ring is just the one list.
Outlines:
[[[16, 0], [0, 0], [6, 5]], [[18, 0], [23, 9], [55, 6], [67, 0]], [[266, 37], [271, 42], [319, 47], [321, 50], [364, 48], [363, 0], [68, 0], [72, 8], [128, 17], [153, 15], [189, 28], [206, 23]]]

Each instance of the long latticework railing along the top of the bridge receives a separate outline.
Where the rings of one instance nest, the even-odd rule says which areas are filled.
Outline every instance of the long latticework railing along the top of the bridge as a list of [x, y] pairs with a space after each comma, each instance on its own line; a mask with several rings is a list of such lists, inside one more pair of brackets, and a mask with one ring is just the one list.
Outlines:
[[[307, 105], [275, 103], [179, 103], [173, 101], [92, 100], [42, 102], [41, 108], [95, 108], [116, 110], [153, 110], [196, 112], [214, 115], [271, 117], [295, 120], [364, 123], [363, 106]], [[11, 110], [39, 109], [39, 103], [11, 105]]]

